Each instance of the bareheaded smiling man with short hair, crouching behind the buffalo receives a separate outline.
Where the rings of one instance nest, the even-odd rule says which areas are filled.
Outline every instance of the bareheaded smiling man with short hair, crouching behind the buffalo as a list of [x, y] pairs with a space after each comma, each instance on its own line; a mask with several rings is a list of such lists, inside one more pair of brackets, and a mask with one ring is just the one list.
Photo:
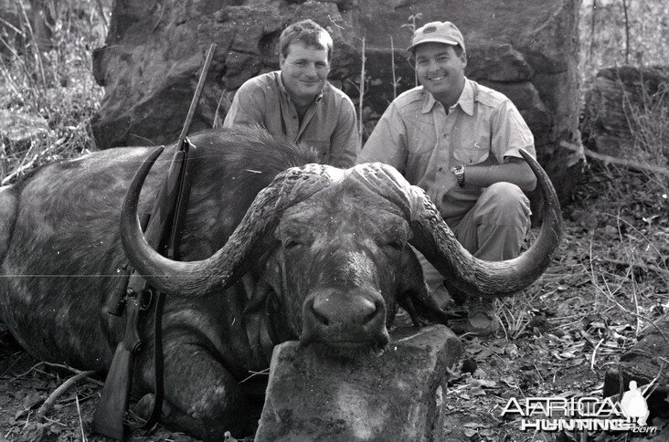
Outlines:
[[293, 23], [279, 38], [281, 70], [237, 91], [223, 127], [260, 125], [274, 136], [312, 146], [319, 162], [349, 167], [360, 151], [356, 110], [327, 81], [333, 41], [313, 20]]

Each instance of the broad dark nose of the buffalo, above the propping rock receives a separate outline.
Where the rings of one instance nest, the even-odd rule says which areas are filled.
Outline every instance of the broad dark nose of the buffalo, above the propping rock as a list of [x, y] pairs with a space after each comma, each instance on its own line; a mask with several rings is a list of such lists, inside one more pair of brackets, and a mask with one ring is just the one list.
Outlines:
[[361, 296], [335, 297], [321, 295], [313, 300], [313, 314], [324, 325], [337, 323], [365, 325], [378, 313], [377, 304]]

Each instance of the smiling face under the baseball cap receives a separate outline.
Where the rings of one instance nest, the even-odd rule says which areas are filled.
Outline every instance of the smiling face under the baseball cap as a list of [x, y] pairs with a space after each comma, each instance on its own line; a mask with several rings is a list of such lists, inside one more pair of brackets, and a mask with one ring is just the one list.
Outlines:
[[444, 106], [457, 102], [464, 87], [467, 58], [458, 56], [455, 47], [443, 43], [423, 43], [416, 47], [416, 73], [420, 84]]

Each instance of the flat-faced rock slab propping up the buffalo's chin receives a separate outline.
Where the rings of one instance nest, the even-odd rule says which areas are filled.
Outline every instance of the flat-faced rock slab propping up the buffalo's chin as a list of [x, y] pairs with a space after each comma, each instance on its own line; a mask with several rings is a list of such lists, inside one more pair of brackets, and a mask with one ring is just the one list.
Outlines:
[[446, 369], [461, 355], [444, 326], [398, 329], [384, 353], [350, 358], [284, 342], [255, 440], [433, 440]]

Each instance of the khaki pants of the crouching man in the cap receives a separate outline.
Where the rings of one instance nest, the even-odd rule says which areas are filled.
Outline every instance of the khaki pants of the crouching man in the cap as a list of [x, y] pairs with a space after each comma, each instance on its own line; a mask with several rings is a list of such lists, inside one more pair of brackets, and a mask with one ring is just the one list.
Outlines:
[[[529, 200], [515, 184], [495, 183], [487, 187], [462, 219], [447, 219], [449, 227], [476, 258], [502, 261], [515, 258], [530, 229]], [[414, 248], [423, 268], [425, 282], [440, 306], [448, 301], [441, 273]]]

